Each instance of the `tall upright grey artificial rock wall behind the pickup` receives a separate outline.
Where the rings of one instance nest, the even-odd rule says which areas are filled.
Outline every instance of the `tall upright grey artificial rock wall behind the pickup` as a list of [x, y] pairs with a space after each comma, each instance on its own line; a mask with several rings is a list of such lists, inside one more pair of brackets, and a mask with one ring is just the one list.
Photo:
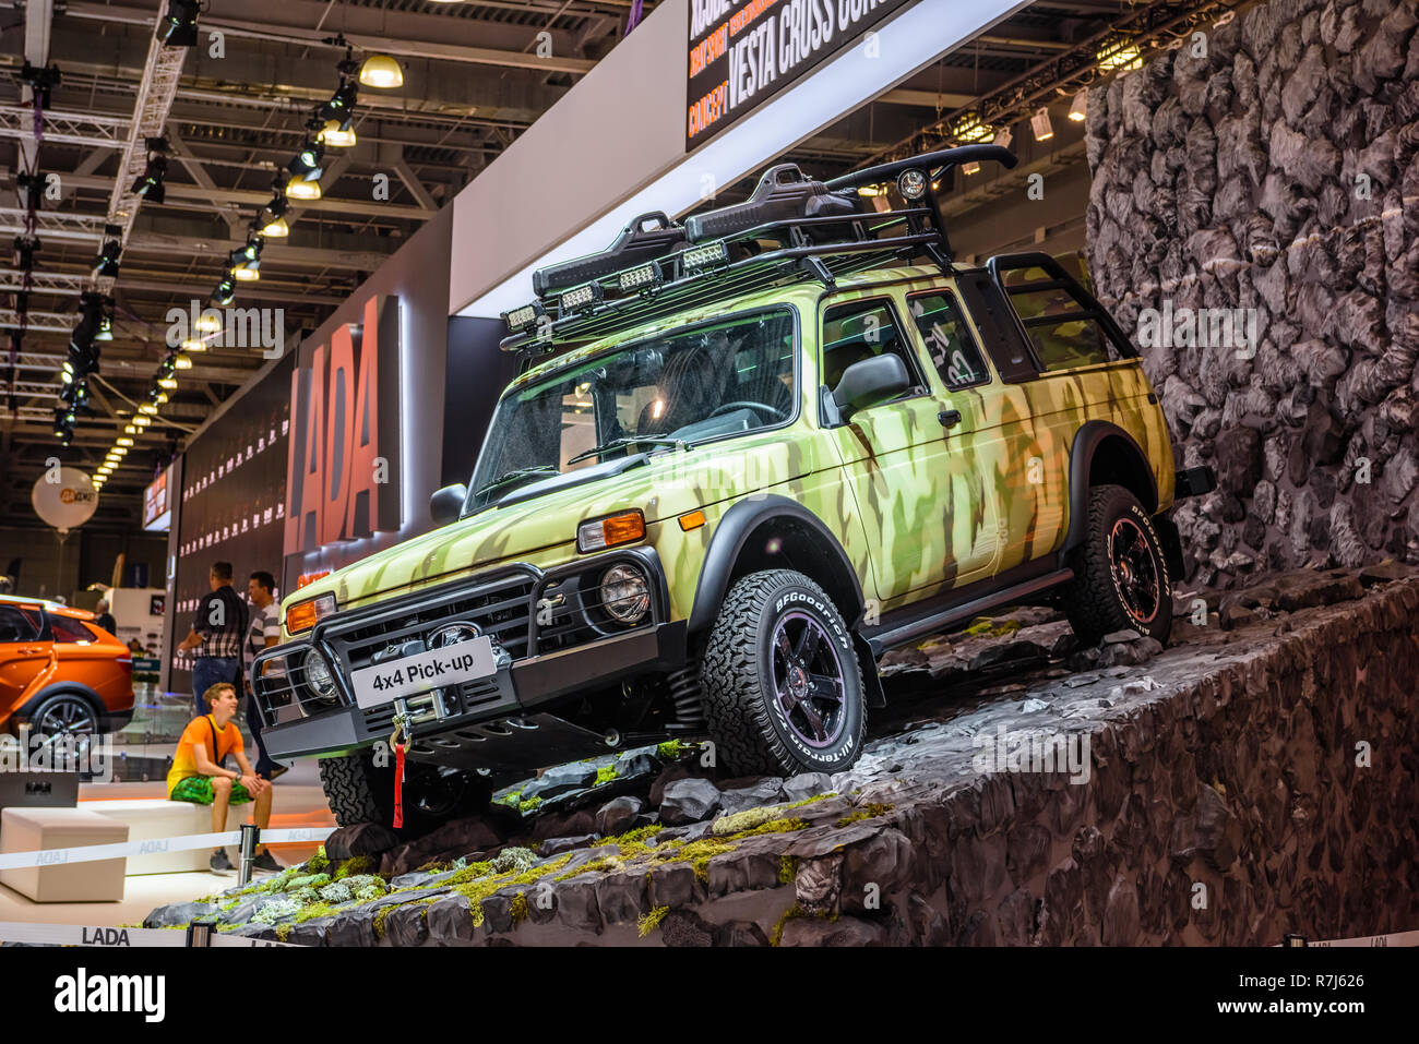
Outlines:
[[1419, 562], [1416, 24], [1415, 0], [1273, 0], [1090, 95], [1100, 298], [1139, 333], [1145, 309], [1254, 322], [1254, 355], [1142, 346], [1179, 465], [1218, 472], [1176, 513], [1202, 584]]

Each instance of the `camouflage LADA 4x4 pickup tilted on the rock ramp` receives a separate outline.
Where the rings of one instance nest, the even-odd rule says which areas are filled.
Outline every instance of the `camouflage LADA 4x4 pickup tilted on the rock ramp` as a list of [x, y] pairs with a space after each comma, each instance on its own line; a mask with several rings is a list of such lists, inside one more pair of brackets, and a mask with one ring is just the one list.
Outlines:
[[[448, 816], [480, 780], [708, 739], [734, 773], [837, 772], [888, 648], [995, 607], [1166, 641], [1175, 472], [1138, 353], [1054, 258], [952, 261], [965, 146], [631, 221], [534, 275], [524, 353], [438, 529], [285, 599], [253, 682], [338, 821]], [[858, 189], [891, 186], [878, 211]], [[885, 201], [885, 200], [884, 200]], [[387, 749], [386, 749], [387, 752]]]

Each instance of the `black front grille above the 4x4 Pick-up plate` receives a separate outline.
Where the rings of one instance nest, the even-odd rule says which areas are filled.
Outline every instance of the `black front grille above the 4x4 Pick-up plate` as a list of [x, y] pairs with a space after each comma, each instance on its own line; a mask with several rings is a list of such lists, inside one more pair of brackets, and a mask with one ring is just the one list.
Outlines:
[[350, 620], [335, 617], [321, 630], [321, 638], [345, 662], [348, 671], [358, 671], [375, 662], [375, 657], [390, 647], [402, 647], [420, 640], [434, 627], [455, 620], [477, 624], [484, 634], [505, 648], [514, 660], [528, 652], [531, 623], [532, 573], [504, 573], [498, 577], [467, 586], [460, 583], [441, 597], [393, 606], [379, 613], [356, 614]]

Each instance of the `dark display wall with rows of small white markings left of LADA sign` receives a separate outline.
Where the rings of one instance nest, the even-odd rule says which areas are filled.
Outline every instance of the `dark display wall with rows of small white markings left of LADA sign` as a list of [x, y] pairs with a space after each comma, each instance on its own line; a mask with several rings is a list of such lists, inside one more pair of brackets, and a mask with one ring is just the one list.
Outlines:
[[192, 684], [190, 654], [172, 650], [187, 637], [197, 604], [211, 590], [213, 562], [233, 565], [231, 583], [243, 597], [247, 577], [257, 570], [277, 577], [278, 596], [285, 590], [280, 586], [281, 538], [292, 362], [292, 356], [278, 362], [183, 454], [166, 631], [170, 672], [165, 684], [172, 692], [186, 692]]

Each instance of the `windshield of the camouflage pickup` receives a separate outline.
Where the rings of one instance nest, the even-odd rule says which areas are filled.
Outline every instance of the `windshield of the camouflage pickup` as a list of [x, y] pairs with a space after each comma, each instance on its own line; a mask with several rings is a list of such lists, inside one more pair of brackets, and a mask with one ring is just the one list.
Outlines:
[[498, 403], [467, 511], [518, 485], [793, 416], [793, 312], [776, 308], [637, 340]]

